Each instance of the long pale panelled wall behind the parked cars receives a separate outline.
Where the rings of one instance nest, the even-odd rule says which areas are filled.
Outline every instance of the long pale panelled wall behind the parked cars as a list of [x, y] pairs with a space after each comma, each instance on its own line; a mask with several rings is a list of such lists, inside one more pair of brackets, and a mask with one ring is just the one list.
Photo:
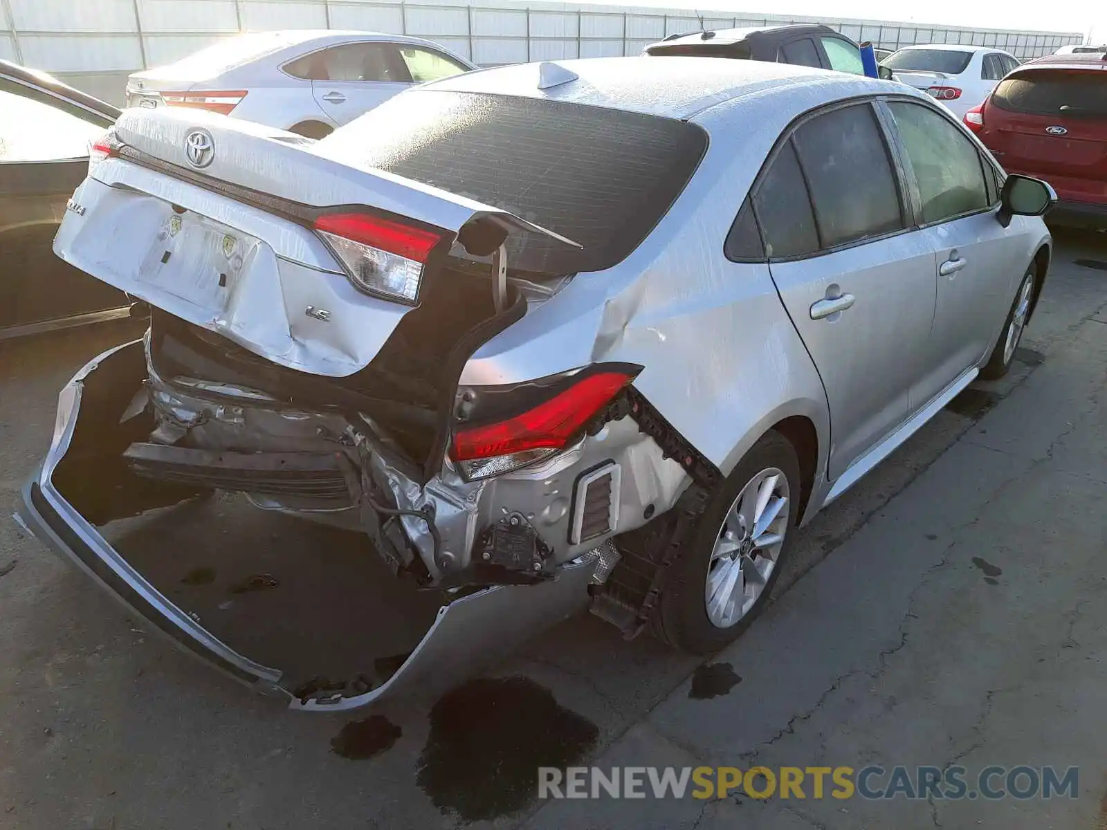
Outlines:
[[[767, 4], [767, 3], [766, 3]], [[666, 34], [697, 31], [687, 9], [526, 0], [0, 0], [0, 58], [54, 73], [118, 102], [126, 74], [182, 58], [214, 40], [263, 29], [363, 29], [438, 41], [479, 64], [632, 55]], [[708, 11], [708, 29], [815, 20]], [[958, 29], [819, 19], [884, 49], [911, 43], [999, 46], [1048, 54], [1078, 33]]]

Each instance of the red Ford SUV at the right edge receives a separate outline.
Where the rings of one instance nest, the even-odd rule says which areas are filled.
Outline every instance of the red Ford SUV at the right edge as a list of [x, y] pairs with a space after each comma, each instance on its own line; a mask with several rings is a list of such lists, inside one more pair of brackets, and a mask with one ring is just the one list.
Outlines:
[[1107, 227], [1107, 54], [1025, 63], [964, 122], [1007, 173], [1053, 185], [1051, 220]]

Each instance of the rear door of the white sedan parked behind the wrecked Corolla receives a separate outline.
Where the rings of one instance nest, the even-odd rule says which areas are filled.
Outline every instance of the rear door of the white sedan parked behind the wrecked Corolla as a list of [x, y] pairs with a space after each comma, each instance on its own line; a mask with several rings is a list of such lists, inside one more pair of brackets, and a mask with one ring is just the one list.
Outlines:
[[411, 82], [394, 43], [343, 43], [314, 55], [312, 95], [339, 126], [403, 92]]

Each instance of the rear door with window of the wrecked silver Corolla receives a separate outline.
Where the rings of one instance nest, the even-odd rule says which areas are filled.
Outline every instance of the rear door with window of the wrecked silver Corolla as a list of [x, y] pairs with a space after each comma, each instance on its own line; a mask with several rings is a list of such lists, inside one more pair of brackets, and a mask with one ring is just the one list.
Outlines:
[[773, 281], [826, 388], [834, 479], [909, 415], [928, 370], [934, 255], [910, 230], [868, 102], [796, 127], [753, 204]]

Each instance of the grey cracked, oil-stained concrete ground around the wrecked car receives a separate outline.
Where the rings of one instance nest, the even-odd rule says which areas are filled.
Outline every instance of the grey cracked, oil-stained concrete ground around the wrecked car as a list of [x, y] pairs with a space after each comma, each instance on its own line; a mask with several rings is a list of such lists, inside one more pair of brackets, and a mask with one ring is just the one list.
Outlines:
[[[1062, 239], [1012, 376], [805, 528], [774, 604], [707, 667], [586, 615], [433, 706], [293, 715], [0, 522], [0, 828], [1107, 827], [1104, 260], [1107, 241]], [[56, 390], [126, 334], [0, 344], [0, 516]], [[716, 696], [694, 688], [712, 677]], [[589, 762], [1079, 766], [1079, 797], [534, 799], [538, 766]]]

